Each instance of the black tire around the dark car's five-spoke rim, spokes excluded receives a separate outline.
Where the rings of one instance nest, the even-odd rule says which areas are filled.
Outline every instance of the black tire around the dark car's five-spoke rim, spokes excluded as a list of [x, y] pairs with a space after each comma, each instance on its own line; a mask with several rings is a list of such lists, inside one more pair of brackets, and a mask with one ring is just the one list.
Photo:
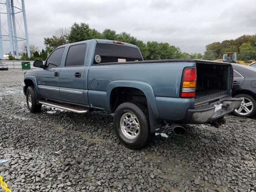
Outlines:
[[[234, 98], [244, 98], [245, 100], [245, 103], [241, 103], [241, 106], [239, 108], [237, 108], [236, 110], [237, 111], [234, 111], [233, 114], [236, 115], [236, 116], [239, 116], [239, 117], [252, 117], [256, 114], [256, 100], [253, 96], [250, 96], [248, 94], [237, 94], [234, 96]], [[252, 102], [252, 105], [248, 106], [248, 105], [245, 105], [246, 102], [248, 103], [248, 101], [251, 101]], [[247, 112], [246, 114], [246, 111], [245, 110], [242, 110], [241, 112], [239, 112], [239, 109], [241, 109], [242, 107], [247, 107], [249, 110], [251, 110], [250, 113]]]

